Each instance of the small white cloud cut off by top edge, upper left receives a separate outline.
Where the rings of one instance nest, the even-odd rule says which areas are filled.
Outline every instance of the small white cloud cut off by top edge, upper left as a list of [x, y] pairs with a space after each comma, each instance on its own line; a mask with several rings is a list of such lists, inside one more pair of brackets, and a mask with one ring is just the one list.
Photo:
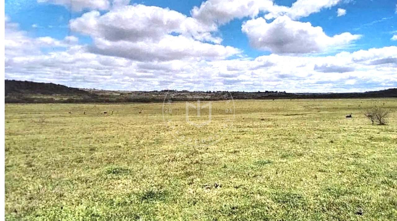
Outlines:
[[39, 3], [62, 5], [73, 11], [81, 12], [83, 9], [108, 10], [108, 0], [37, 0]]

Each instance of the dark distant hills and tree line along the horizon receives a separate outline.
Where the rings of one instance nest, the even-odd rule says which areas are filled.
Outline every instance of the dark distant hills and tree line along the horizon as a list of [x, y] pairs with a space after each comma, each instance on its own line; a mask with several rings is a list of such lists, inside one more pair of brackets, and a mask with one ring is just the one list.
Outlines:
[[173, 101], [233, 99], [285, 99], [285, 98], [397, 98], [397, 88], [357, 93], [287, 93], [278, 91], [264, 92], [227, 92], [161, 90], [161, 91], [113, 91], [72, 88], [53, 83], [32, 81], [5, 81], [6, 103], [104, 103], [104, 102], [163, 102], [167, 94], [173, 93]]

